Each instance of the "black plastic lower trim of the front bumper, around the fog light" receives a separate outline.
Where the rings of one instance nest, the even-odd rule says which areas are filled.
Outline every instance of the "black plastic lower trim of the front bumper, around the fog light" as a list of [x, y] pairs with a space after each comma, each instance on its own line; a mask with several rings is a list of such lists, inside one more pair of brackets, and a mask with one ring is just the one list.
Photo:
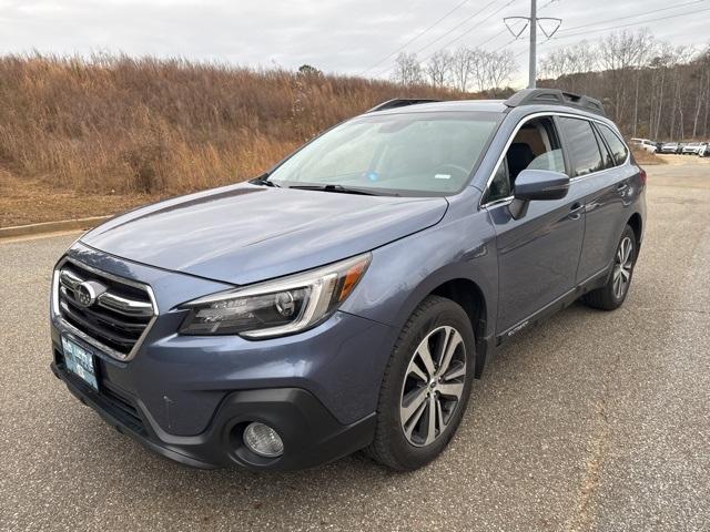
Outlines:
[[[374, 413], [355, 423], [342, 424], [311, 392], [274, 388], [232, 392], [224, 398], [203, 433], [175, 437], [163, 431], [140, 401], [120, 396], [111, 388], [97, 392], [68, 374], [61, 357], [55, 358], [51, 369], [82, 403], [93, 408], [119, 432], [165, 458], [195, 468], [311, 468], [362, 449], [372, 441], [375, 430]], [[243, 444], [242, 433], [252, 421], [267, 423], [278, 431], [284, 442], [283, 456], [258, 457]]]

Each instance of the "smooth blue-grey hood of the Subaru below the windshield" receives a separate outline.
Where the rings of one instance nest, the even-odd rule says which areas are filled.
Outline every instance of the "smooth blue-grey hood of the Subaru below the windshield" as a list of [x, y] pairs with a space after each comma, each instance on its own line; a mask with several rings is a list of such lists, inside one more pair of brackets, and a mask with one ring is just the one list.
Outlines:
[[444, 197], [231, 185], [116, 216], [81, 242], [129, 260], [244, 285], [368, 252], [438, 223]]

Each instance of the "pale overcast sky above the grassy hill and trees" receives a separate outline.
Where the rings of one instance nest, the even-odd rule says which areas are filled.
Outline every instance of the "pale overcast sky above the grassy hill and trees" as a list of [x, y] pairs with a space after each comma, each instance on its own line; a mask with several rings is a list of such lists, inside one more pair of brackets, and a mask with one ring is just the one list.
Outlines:
[[[250, 66], [295, 69], [310, 63], [326, 72], [347, 74], [372, 66], [367, 75], [387, 76], [394, 55], [385, 58], [462, 1], [0, 0], [0, 53], [110, 51]], [[672, 44], [701, 47], [710, 42], [710, 0], [548, 3], [538, 0], [544, 7], [539, 16], [562, 18], [558, 35], [569, 37], [541, 43], [540, 55], [585, 37], [594, 40], [608, 33], [592, 30], [621, 24], [648, 27], [658, 39]], [[425, 59], [450, 41], [449, 49], [486, 41], [485, 48], [490, 50], [508, 45], [517, 54], [523, 80], [526, 39], [510, 43], [510, 34], [498, 33], [505, 30], [504, 17], [527, 16], [529, 4], [529, 0], [469, 0], [405, 50]], [[666, 19], [653, 21], [660, 18]], [[584, 34], [577, 34], [580, 32]]]

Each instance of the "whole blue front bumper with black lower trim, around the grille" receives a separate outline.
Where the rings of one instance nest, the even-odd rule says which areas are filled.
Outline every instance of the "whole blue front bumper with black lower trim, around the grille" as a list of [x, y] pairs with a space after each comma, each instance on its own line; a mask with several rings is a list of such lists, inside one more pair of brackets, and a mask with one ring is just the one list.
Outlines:
[[[396, 338], [386, 325], [336, 311], [304, 332], [251, 341], [183, 336], [181, 304], [224, 284], [74, 245], [68, 255], [150, 286], [159, 315], [135, 356], [116, 360], [75, 335], [51, 308], [52, 370], [110, 424], [155, 451], [199, 467], [300, 469], [365, 447], [382, 375]], [[62, 338], [94, 356], [100, 393], [68, 375]], [[273, 462], [240, 451], [247, 422], [274, 427], [285, 453]]]

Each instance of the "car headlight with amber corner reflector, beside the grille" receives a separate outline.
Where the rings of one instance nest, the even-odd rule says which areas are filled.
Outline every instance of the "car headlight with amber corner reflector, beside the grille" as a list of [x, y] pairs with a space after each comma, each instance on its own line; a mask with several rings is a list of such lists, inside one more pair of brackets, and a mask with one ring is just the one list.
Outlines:
[[353, 291], [372, 255], [366, 253], [303, 274], [222, 291], [186, 303], [182, 335], [268, 338], [311, 328]]

